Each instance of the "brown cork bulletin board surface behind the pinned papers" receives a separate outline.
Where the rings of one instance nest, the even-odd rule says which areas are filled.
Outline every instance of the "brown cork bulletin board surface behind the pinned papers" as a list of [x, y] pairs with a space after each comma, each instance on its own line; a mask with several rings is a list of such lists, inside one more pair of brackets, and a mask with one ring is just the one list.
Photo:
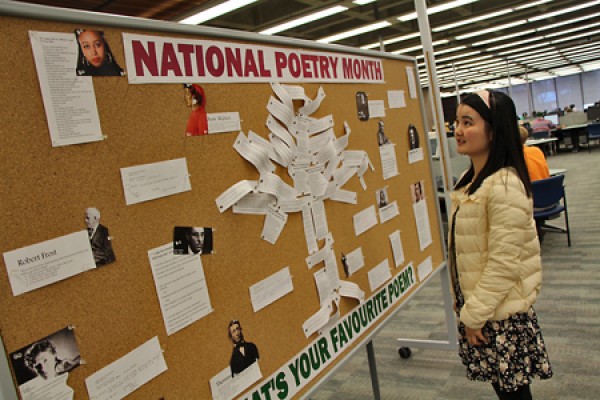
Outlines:
[[[261, 239], [264, 216], [234, 214], [231, 210], [219, 212], [215, 199], [240, 180], [259, 179], [259, 172], [233, 149], [239, 132], [185, 136], [190, 111], [181, 84], [131, 85], [127, 77], [94, 77], [105, 140], [51, 146], [29, 31], [72, 33], [81, 27], [101, 30], [122, 67], [125, 67], [123, 32], [232, 40], [194, 34], [191, 29], [181, 33], [123, 28], [119, 27], [118, 19], [112, 25], [94, 25], [91, 21], [83, 17], [80, 22], [0, 17], [4, 38], [0, 44], [0, 86], [4, 93], [0, 96], [0, 251], [4, 253], [85, 229], [84, 210], [97, 207], [102, 213], [102, 224], [110, 229], [116, 255], [116, 261], [105, 267], [19, 296], [12, 294], [2, 260], [0, 332], [7, 354], [65, 326], [73, 326], [85, 364], [69, 372], [67, 383], [73, 388], [75, 399], [87, 399], [86, 377], [156, 336], [168, 369], [128, 398], [208, 399], [210, 379], [229, 364], [232, 345], [228, 323], [237, 319], [243, 325], [246, 340], [260, 350], [262, 371], [262, 379], [248, 387], [241, 397], [266, 398], [260, 389], [265, 385], [270, 385], [279, 398], [301, 396], [350, 351], [364, 344], [364, 339], [384, 317], [396, 311], [424, 283], [417, 275], [419, 264], [430, 257], [436, 269], [444, 262], [421, 93], [416, 99], [409, 96], [406, 67], [414, 67], [414, 60], [371, 55], [383, 60], [383, 84], [294, 83], [302, 86], [310, 98], [316, 96], [319, 87], [324, 89], [326, 97], [313, 116], [333, 115], [337, 137], [344, 134], [343, 123], [347, 122], [352, 131], [347, 149], [366, 151], [374, 167], [374, 171], [369, 169], [364, 175], [366, 190], [357, 177], [344, 186], [357, 193], [357, 204], [325, 201], [339, 275], [364, 291], [365, 303], [373, 307], [370, 311], [365, 309], [365, 313], [377, 315], [368, 327], [358, 329], [346, 345], [339, 341], [336, 332], [338, 342], [332, 347], [319, 344], [318, 334], [305, 337], [302, 330], [303, 323], [320, 305], [313, 277], [316, 268], [307, 268], [305, 262], [308, 252], [301, 213], [290, 213], [277, 242], [270, 244]], [[290, 42], [288, 47], [297, 45]], [[332, 47], [330, 51], [335, 49]], [[266, 105], [274, 95], [268, 83], [192, 83], [199, 83], [204, 89], [208, 113], [237, 111], [244, 132], [252, 130], [267, 137]], [[385, 117], [361, 121], [357, 116], [356, 93], [364, 92], [369, 100], [385, 100], [387, 104], [389, 90], [403, 90], [406, 107], [386, 106]], [[382, 177], [378, 150], [379, 121], [385, 122], [385, 133], [396, 144], [399, 174], [387, 180]], [[425, 154], [424, 160], [412, 164], [407, 156], [410, 124], [416, 128]], [[190, 191], [126, 205], [120, 168], [178, 158], [187, 161]], [[277, 174], [291, 183], [289, 177], [285, 178], [285, 169], [278, 167]], [[432, 237], [432, 243], [422, 251], [410, 190], [419, 181], [424, 183]], [[353, 216], [375, 205], [375, 191], [383, 187], [387, 187], [388, 198], [397, 201], [399, 215], [356, 236]], [[169, 243], [175, 226], [213, 228], [213, 253], [201, 256], [213, 311], [168, 336], [148, 251]], [[396, 230], [401, 232], [405, 258], [398, 268], [388, 238]], [[362, 248], [365, 266], [346, 278], [339, 262], [341, 253], [358, 247]], [[371, 291], [368, 272], [386, 258], [393, 278]], [[412, 267], [407, 270], [407, 266]], [[293, 277], [293, 290], [254, 312], [249, 287], [284, 267], [289, 267]], [[392, 293], [394, 282], [396, 298], [392, 302], [389, 295], [384, 299], [381, 292]], [[397, 291], [398, 287], [402, 293]], [[340, 321], [351, 317], [360, 307], [357, 300], [342, 297]], [[352, 323], [352, 318], [348, 321]], [[319, 346], [320, 362], [309, 366], [306, 359], [312, 353], [307, 349], [317, 351]], [[282, 383], [284, 377], [288, 382], [286, 387]], [[298, 380], [304, 383], [294, 389]]]

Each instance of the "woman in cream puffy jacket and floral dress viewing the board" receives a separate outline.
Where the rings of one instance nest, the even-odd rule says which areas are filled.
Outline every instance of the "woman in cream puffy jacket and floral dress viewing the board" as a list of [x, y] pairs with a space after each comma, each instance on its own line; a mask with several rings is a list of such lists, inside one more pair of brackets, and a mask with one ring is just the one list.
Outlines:
[[533, 377], [552, 376], [532, 308], [540, 246], [516, 115], [500, 92], [459, 105], [457, 151], [471, 166], [451, 196], [448, 246], [460, 357], [468, 378], [491, 382], [500, 399], [532, 399]]

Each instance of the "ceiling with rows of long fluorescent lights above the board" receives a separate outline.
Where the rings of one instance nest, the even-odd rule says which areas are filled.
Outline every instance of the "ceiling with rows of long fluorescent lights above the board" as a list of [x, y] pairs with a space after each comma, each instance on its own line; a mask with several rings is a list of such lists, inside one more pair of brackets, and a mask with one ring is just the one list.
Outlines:
[[[470, 0], [439, 11], [457, 0], [427, 1], [437, 74], [442, 91], [459, 87], [506, 86], [600, 67], [600, 0]], [[29, 3], [179, 21], [225, 0], [33, 0]], [[330, 41], [332, 35], [379, 23], [380, 28], [330, 41], [352, 47], [423, 56], [412, 0], [256, 0], [203, 23], [205, 26], [261, 32], [315, 12], [343, 6], [334, 15], [277, 33]], [[408, 38], [404, 38], [407, 36]], [[424, 67], [422, 84], [427, 85]]]

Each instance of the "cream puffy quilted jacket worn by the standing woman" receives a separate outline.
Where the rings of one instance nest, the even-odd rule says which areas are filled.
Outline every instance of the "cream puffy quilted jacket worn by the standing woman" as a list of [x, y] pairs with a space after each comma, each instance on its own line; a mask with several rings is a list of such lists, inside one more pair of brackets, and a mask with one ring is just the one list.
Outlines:
[[460, 320], [476, 329], [527, 311], [540, 290], [542, 264], [533, 201], [513, 168], [495, 172], [472, 195], [463, 189], [451, 195], [465, 298]]

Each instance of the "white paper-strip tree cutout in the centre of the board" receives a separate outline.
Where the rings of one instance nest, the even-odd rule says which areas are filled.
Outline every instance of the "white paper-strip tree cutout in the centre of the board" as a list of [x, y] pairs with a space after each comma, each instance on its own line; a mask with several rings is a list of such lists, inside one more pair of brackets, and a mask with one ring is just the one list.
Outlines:
[[[217, 199], [217, 207], [224, 212], [233, 207], [234, 213], [265, 215], [261, 237], [275, 244], [287, 223], [288, 214], [301, 212], [304, 236], [309, 256], [307, 265], [312, 268], [325, 263], [326, 275], [335, 291], [330, 299], [321, 299], [323, 308], [331, 310], [333, 296], [341, 284], [337, 262], [333, 252], [333, 237], [329, 232], [324, 202], [337, 201], [356, 204], [356, 193], [343, 189], [343, 186], [357, 175], [363, 189], [366, 190], [364, 174], [373, 166], [369, 156], [363, 150], [346, 150], [350, 137], [350, 127], [344, 122], [344, 134], [336, 137], [332, 115], [322, 118], [311, 117], [325, 99], [325, 91], [319, 88], [314, 99], [304, 93], [301, 86], [272, 83], [275, 96], [267, 103], [269, 116], [266, 126], [269, 140], [249, 131], [248, 136], [240, 132], [233, 147], [260, 173], [258, 181], [242, 180], [223, 192]], [[302, 106], [294, 109], [294, 101]], [[287, 184], [275, 174], [277, 163], [287, 168], [293, 180], [293, 186]], [[325, 239], [323, 248], [318, 241]], [[352, 290], [341, 290], [344, 294]], [[358, 293], [360, 292], [360, 293]], [[362, 291], [355, 290], [352, 297], [361, 298]], [[328, 305], [327, 305], [328, 304]], [[304, 331], [307, 336], [319, 329], [329, 319], [330, 312], [324, 309], [307, 320]], [[321, 320], [326, 320], [321, 325]], [[310, 326], [308, 326], [310, 325]]]

